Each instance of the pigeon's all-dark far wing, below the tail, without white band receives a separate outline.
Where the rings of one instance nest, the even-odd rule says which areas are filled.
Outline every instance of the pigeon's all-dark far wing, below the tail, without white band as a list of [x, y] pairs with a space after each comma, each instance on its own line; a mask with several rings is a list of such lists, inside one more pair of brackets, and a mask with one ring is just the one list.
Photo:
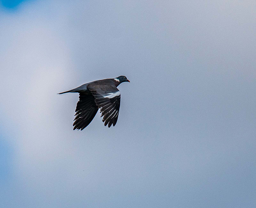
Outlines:
[[95, 98], [92, 94], [79, 93], [79, 101], [76, 104], [76, 118], [74, 119], [74, 130], [83, 130], [90, 124], [98, 111]]

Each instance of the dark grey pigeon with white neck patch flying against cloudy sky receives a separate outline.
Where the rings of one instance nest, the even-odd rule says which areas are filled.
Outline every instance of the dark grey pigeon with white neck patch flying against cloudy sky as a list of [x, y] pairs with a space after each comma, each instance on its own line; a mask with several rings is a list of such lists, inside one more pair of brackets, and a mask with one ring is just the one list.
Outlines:
[[79, 93], [73, 130], [83, 130], [86, 128], [95, 117], [98, 109], [100, 109], [101, 117], [103, 116], [102, 121], [104, 125], [108, 125], [108, 128], [110, 128], [111, 125], [115, 126], [118, 119], [121, 99], [121, 93], [117, 86], [122, 82], [130, 81], [126, 76], [118, 76], [116, 78], [88, 82], [72, 90], [58, 93]]

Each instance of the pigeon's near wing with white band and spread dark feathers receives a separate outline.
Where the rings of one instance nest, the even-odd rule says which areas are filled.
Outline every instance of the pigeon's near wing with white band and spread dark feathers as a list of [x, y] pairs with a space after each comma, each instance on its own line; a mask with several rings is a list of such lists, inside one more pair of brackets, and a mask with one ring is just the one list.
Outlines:
[[106, 126], [116, 125], [119, 108], [120, 108], [120, 91], [114, 85], [97, 85], [88, 84], [87, 89], [90, 90], [95, 98], [96, 105], [101, 108], [101, 117]]

